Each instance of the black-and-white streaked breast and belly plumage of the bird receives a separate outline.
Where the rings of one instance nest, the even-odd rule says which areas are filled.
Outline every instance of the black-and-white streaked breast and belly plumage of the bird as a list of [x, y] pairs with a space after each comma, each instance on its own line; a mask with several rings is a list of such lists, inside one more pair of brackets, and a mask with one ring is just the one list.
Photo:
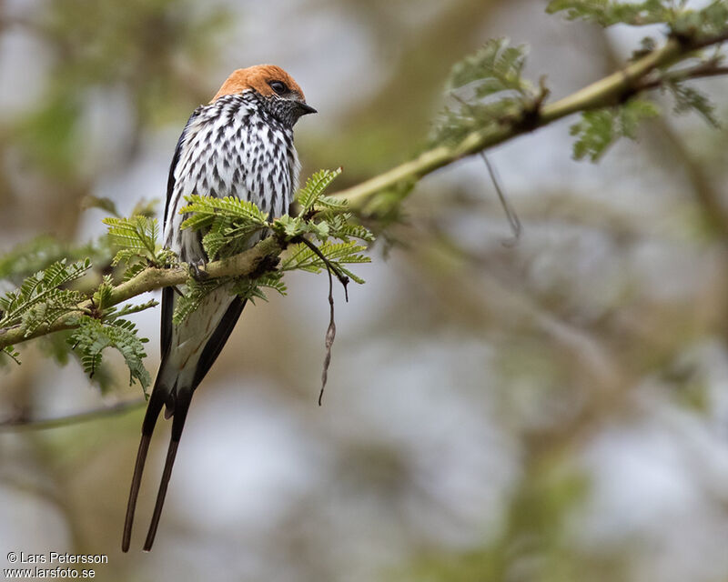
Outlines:
[[288, 210], [300, 166], [293, 126], [279, 121], [271, 105], [248, 89], [198, 107], [187, 121], [165, 212], [165, 246], [178, 250], [180, 260], [204, 258], [198, 234], [179, 230], [184, 216], [174, 210], [184, 206], [184, 196], [238, 196], [272, 216]]

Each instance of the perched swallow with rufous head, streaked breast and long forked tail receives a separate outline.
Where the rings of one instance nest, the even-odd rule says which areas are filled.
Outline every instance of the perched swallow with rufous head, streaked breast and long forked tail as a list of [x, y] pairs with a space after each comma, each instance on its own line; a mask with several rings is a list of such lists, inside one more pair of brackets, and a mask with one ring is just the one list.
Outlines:
[[[306, 104], [298, 84], [283, 69], [257, 65], [238, 69], [208, 105], [197, 107], [179, 137], [167, 182], [164, 216], [165, 246], [181, 261], [203, 265], [207, 256], [199, 232], [180, 230], [185, 196], [237, 196], [252, 201], [271, 216], [288, 211], [298, 187], [298, 155], [293, 146], [293, 125], [301, 115], [316, 113]], [[252, 245], [256, 240], [250, 241]], [[245, 301], [223, 286], [210, 293], [199, 308], [178, 326], [172, 325], [177, 296], [173, 288], [162, 292], [162, 361], [142, 424], [136, 455], [122, 549], [131, 539], [136, 498], [139, 495], [149, 441], [157, 417], [166, 407], [172, 417], [157, 503], [144, 549], [154, 542], [179, 438], [192, 395], [215, 363], [233, 330]]]

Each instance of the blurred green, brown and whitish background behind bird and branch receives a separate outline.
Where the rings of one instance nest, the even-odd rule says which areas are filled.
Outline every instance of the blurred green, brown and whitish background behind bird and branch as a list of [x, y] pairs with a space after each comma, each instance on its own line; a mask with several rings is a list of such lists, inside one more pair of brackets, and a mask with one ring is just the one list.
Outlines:
[[[187, 115], [240, 66], [297, 79], [320, 112], [297, 126], [304, 174], [343, 166], [348, 186], [420, 151], [450, 65], [489, 37], [529, 43], [557, 97], [642, 37], [545, 4], [2, 0], [0, 246], [101, 235], [90, 196], [122, 213], [164, 196]], [[703, 88], [725, 120], [728, 85]], [[128, 555], [141, 408], [2, 432], [0, 561], [106, 554], [110, 581], [728, 579], [728, 140], [669, 116], [594, 166], [571, 161], [569, 123], [490, 154], [516, 246], [481, 160], [417, 186], [368, 283], [339, 292], [324, 406], [326, 277], [246, 309], [195, 397], [152, 553], [166, 424]], [[158, 311], [136, 321], [154, 373]], [[102, 394], [26, 347], [2, 418], [139, 396], [111, 361]]]

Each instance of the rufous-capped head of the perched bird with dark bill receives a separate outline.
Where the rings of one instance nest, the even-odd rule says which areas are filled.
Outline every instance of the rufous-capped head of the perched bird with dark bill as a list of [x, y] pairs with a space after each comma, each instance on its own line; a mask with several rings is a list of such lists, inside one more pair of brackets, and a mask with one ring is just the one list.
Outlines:
[[291, 125], [301, 115], [317, 113], [306, 103], [306, 97], [293, 77], [276, 65], [255, 65], [233, 71], [210, 103], [224, 95], [238, 95], [249, 90], [264, 97], [274, 113], [288, 117]]

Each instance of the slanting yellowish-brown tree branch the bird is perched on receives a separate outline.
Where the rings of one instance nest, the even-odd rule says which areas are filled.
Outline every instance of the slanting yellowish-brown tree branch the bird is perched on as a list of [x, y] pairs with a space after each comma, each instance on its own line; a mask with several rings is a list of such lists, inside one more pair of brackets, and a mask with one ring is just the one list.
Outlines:
[[[473, 131], [455, 145], [438, 146], [430, 149], [410, 162], [375, 176], [358, 186], [341, 190], [333, 196], [347, 199], [353, 209], [366, 211], [366, 207], [376, 195], [417, 181], [440, 167], [448, 166], [463, 157], [478, 154], [489, 147], [501, 144], [518, 135], [530, 133], [568, 115], [619, 105], [632, 95], [657, 88], [661, 85], [660, 79], [652, 80], [649, 78], [653, 71], [689, 58], [696, 50], [711, 45], [720, 45], [726, 41], [728, 41], [728, 32], [695, 39], [670, 37], [662, 48], [642, 56], [622, 70], [608, 75], [572, 95], [563, 97], [550, 105], [542, 105], [541, 102], [546, 95], [542, 91], [541, 95], [532, 104], [531, 110], [524, 108], [521, 111], [520, 118], [516, 116], [516, 118], [504, 122], [495, 130], [490, 126], [487, 129]], [[676, 74], [679, 74], [679, 72]], [[715, 71], [710, 67], [703, 68], [703, 70], [700, 67], [695, 67], [694, 69], [687, 69], [687, 74], [689, 78], [712, 76], [723, 74], [723, 69]], [[663, 77], [663, 80], [670, 78], [673, 79], [673, 77], [667, 76]], [[282, 250], [283, 246], [278, 239], [271, 236], [239, 255], [209, 263], [205, 268], [205, 272], [211, 277], [250, 275], [256, 271], [263, 260], [280, 255]], [[117, 305], [147, 291], [182, 285], [187, 281], [188, 275], [189, 271], [185, 265], [167, 269], [149, 267], [129, 281], [116, 286], [112, 293], [112, 300], [108, 305]], [[91, 307], [90, 300], [79, 304], [78, 314], [87, 312]], [[75, 318], [76, 315], [74, 314], [62, 317], [53, 325], [40, 326], [27, 336], [19, 327], [0, 330], [0, 348], [12, 346], [37, 336], [45, 336], [56, 331], [73, 328], [75, 327]]]

